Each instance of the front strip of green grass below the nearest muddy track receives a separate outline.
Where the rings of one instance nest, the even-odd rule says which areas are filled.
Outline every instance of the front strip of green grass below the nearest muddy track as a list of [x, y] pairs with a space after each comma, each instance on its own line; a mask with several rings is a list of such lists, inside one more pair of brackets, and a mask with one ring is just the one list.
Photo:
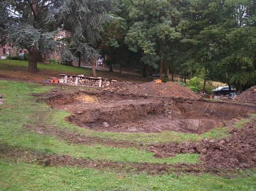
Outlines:
[[44, 167], [0, 161], [1, 191], [253, 191], [255, 171], [236, 178], [212, 175], [144, 175], [89, 168]]

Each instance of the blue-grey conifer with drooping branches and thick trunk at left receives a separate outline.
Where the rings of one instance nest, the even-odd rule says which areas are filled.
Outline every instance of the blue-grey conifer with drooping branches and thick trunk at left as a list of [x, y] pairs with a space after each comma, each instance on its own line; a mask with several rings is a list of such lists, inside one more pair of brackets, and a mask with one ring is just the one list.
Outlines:
[[[102, 24], [113, 11], [111, 0], [2, 0], [7, 6], [9, 43], [28, 49], [29, 71], [37, 72], [37, 58], [46, 50], [59, 49], [54, 40], [58, 30], [70, 33], [70, 44], [85, 57], [98, 57], [93, 45], [100, 38]], [[87, 43], [84, 43], [83, 40]], [[65, 57], [74, 58], [69, 47], [62, 46]]]

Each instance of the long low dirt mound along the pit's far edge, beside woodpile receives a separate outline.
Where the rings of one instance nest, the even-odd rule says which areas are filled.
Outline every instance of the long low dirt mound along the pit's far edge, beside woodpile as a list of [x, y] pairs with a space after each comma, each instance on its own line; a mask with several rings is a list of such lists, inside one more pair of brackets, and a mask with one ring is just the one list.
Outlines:
[[140, 96], [163, 96], [163, 97], [182, 97], [198, 98], [198, 95], [187, 87], [174, 82], [144, 84], [134, 84], [131, 82], [116, 82], [112, 87], [108, 87], [115, 93], [130, 93]]

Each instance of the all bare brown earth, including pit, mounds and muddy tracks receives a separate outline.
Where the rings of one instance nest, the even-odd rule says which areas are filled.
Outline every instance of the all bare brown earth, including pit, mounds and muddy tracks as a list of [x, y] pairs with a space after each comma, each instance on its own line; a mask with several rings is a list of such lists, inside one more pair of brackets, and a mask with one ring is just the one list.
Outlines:
[[[106, 76], [105, 76], [106, 77]], [[36, 79], [33, 79], [37, 81]], [[136, 82], [135, 82], [136, 81]], [[42, 82], [44, 83], [44, 82]], [[45, 85], [49, 85], [46, 84]], [[52, 85], [52, 84], [50, 84]], [[254, 89], [256, 89], [254, 87]], [[178, 153], [200, 154], [200, 164], [124, 164], [120, 162], [74, 159], [71, 156], [17, 151], [15, 148], [1, 146], [0, 154], [15, 156], [18, 160], [39, 162], [46, 166], [87, 166], [94, 168], [122, 169], [130, 166], [137, 173], [147, 170], [149, 174], [176, 172], [225, 174], [224, 169], [256, 167], [256, 120], [242, 129], [232, 127], [234, 118], [247, 117], [256, 113], [254, 89], [249, 89], [236, 97], [235, 101], [211, 101], [201, 98], [190, 89], [173, 82], [141, 83], [117, 82], [108, 88], [97, 90], [74, 89], [60, 86], [46, 94], [32, 94], [56, 108], [69, 111], [67, 121], [80, 127], [95, 131], [113, 131], [122, 133], [161, 133], [177, 131], [201, 134], [218, 125], [229, 126], [230, 136], [219, 140], [202, 140], [198, 143], [162, 143], [148, 144], [131, 141], [117, 141], [88, 136], [81, 136], [68, 130], [56, 129], [47, 125], [37, 127], [24, 124], [37, 133], [54, 135], [60, 141], [72, 144], [101, 144], [114, 147], [135, 147], [154, 152], [156, 157], [169, 157]], [[226, 101], [225, 101], [226, 100]], [[250, 104], [245, 104], [250, 103]], [[0, 148], [1, 148], [0, 147]], [[19, 162], [19, 161], [18, 161]]]

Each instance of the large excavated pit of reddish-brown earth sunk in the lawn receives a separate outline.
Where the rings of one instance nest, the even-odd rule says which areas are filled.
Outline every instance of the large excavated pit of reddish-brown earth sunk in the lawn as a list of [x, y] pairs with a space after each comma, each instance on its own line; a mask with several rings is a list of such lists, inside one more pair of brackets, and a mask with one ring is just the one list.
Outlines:
[[254, 106], [231, 102], [110, 91], [58, 92], [46, 102], [69, 111], [69, 122], [102, 132], [201, 134], [255, 113]]

